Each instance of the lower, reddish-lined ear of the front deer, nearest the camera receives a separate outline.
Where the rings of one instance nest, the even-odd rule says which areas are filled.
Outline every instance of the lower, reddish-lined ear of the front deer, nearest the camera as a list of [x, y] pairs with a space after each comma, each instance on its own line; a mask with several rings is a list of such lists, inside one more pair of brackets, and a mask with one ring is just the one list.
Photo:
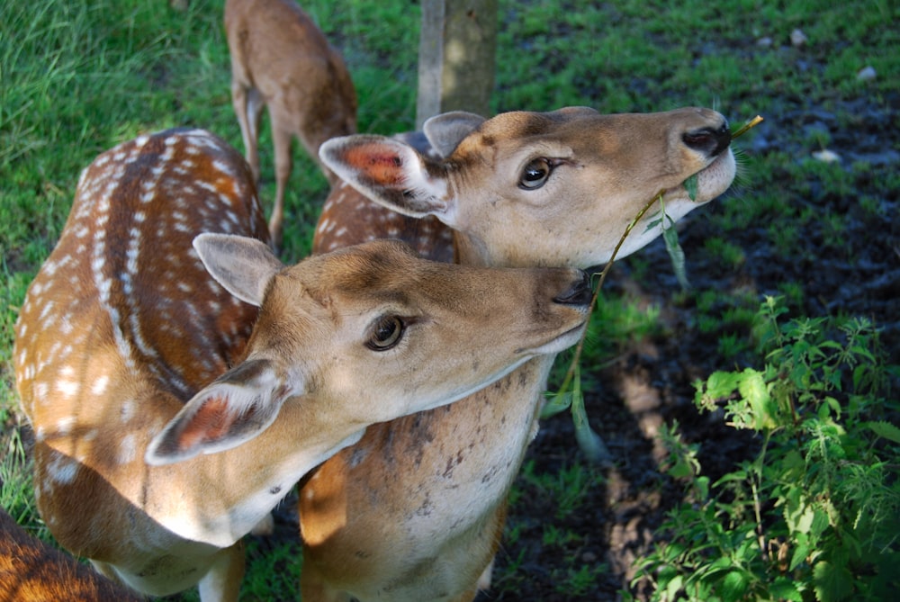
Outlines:
[[302, 394], [285, 381], [267, 360], [239, 364], [194, 395], [153, 437], [145, 462], [182, 462], [253, 439], [275, 421], [285, 400]]

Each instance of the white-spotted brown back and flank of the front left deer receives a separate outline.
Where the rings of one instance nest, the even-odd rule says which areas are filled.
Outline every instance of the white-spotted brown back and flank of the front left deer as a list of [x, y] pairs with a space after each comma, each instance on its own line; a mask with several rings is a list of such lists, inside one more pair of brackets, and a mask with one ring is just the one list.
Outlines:
[[257, 308], [206, 272], [192, 247], [203, 231], [268, 239], [244, 159], [203, 130], [139, 136], [85, 169], [26, 293], [14, 365], [35, 494], [77, 555], [133, 568], [132, 546], [159, 528], [134, 501], [157, 491], [148, 436], [243, 355]]

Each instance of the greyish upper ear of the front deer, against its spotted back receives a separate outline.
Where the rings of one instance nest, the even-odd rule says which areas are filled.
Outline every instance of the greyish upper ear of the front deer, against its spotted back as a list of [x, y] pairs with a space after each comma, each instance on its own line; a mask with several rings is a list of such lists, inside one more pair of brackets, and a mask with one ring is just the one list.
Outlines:
[[203, 233], [193, 239], [207, 272], [226, 291], [259, 307], [266, 287], [284, 267], [272, 249], [256, 238]]

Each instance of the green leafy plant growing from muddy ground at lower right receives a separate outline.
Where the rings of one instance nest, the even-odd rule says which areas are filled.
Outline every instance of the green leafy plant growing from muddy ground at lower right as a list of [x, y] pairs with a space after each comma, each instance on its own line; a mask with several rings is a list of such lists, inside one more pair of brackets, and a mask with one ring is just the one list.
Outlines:
[[786, 320], [761, 305], [761, 368], [697, 382], [698, 409], [757, 434], [759, 452], [716, 482], [698, 445], [662, 430], [685, 502], [667, 542], [636, 563], [654, 600], [885, 600], [900, 575], [900, 403], [868, 319]]

